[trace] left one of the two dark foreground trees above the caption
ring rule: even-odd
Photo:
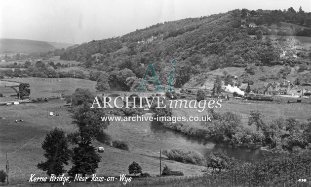
[[[46,171],[48,175],[62,175],[66,172],[63,164],[68,165],[71,152],[62,129],[55,127],[54,130],[46,134],[42,143],[42,149],[45,151],[43,155],[47,160],[37,164],[39,169]]]

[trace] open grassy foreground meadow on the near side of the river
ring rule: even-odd
[[[48,112],[59,113],[59,116],[46,118],[46,108]],[[28,184],[30,174],[46,176],[42,170],[36,167],[38,162],[45,160],[41,143],[46,132],[55,127],[62,128],[66,133],[75,130],[70,117],[71,113],[68,110],[68,105],[60,99],[44,103],[28,103],[27,105],[0,106],[0,117],[5,118],[0,119],[0,169],[5,169],[5,152],[7,150],[12,184]],[[24,122],[15,123],[15,120],[19,119]],[[93,145],[105,147],[105,152],[101,153],[102,159],[96,171],[98,176],[127,174],[127,167],[133,160],[142,166],[143,172],[148,172],[153,176],[159,173],[158,155],[146,153],[143,150],[123,151],[98,141],[94,141]],[[202,174],[200,170],[206,170],[203,166],[165,159],[162,160],[162,165],[167,165],[172,170],[182,171],[185,175]],[[71,164],[65,167],[66,170],[70,168]]]

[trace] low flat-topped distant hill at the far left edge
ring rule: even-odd
[[[2,53],[35,53],[55,49],[57,48],[45,41],[0,38],[0,52]]]

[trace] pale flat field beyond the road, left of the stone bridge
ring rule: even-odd
[[[28,77],[10,78],[5,80],[19,83],[29,83],[31,89],[31,98],[59,96],[60,94],[72,94],[77,88],[85,88],[89,89],[91,92],[95,92],[96,85],[95,81],[74,78]]]

